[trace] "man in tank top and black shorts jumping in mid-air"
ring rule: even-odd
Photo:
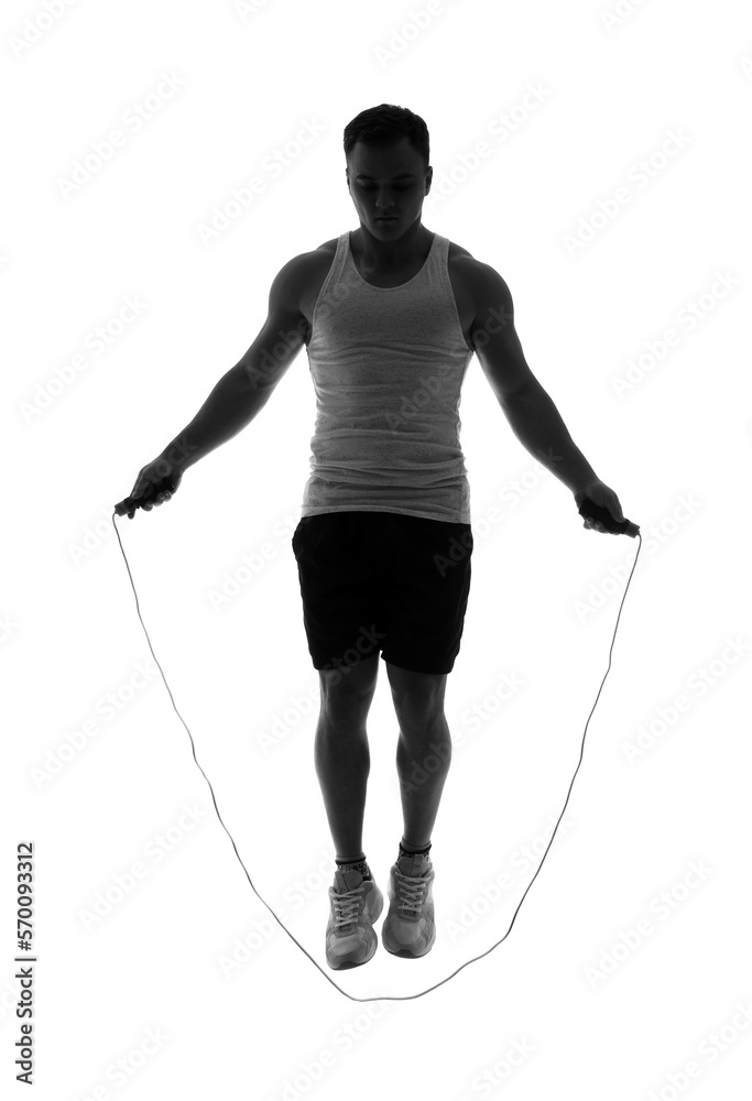
[[[423,119],[400,107],[382,103],[346,127],[359,230],[285,264],[253,345],[132,492],[148,511],[170,500],[188,466],[250,423],[306,344],[317,415],[292,549],[321,685],[315,766],[336,850],[326,929],[334,969],[371,959],[383,907],[362,848],[366,720],[380,656],[400,726],[404,818],[382,941],[415,959],[436,936],[429,851],[451,760],[444,696],[470,589],[458,408],[473,352],[523,446],[576,502],[587,494],[623,519],[527,367],[502,277],[422,225],[428,149]],[[599,521],[585,526],[606,531]]]

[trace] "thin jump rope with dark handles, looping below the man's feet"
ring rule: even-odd
[[[162,481],[161,484],[165,486],[167,492],[170,493],[170,495],[172,495],[172,493],[174,492],[174,486],[172,484],[172,482],[170,482],[168,479],[163,479],[163,481]],[[124,499],[124,501],[121,501],[119,504],[116,504],[115,512],[112,513],[112,526],[115,527],[116,534],[118,536],[118,543],[120,544],[120,549],[122,550],[122,556],[123,556],[123,558],[126,560],[126,569],[128,570],[128,576],[130,577],[130,580],[131,580],[131,588],[133,589],[133,596],[135,597],[135,610],[137,610],[137,612],[139,614],[139,619],[141,620],[141,626],[144,630],[144,634],[146,635],[146,641],[149,643],[149,648],[151,650],[152,656],[154,657],[154,661],[156,662],[156,664],[159,666],[160,673],[162,674],[162,679],[164,680],[165,688],[170,693],[170,699],[172,700],[173,708],[175,708],[175,713],[177,715],[178,719],[181,720],[181,722],[183,723],[183,726],[185,727],[185,729],[188,731],[188,738],[190,739],[190,746],[192,746],[192,750],[193,750],[194,761],[196,762],[196,764],[200,768],[200,772],[201,772],[201,775],[204,776],[204,780],[209,785],[209,791],[211,792],[211,799],[214,802],[215,810],[217,811],[217,818],[219,818],[219,821],[221,824],[222,829],[225,830],[225,832],[227,833],[227,836],[229,837],[229,839],[230,839],[230,841],[232,843],[232,848],[235,849],[235,854],[238,858],[238,860],[240,861],[240,865],[241,865],[242,870],[246,872],[246,876],[248,879],[248,882],[251,884],[253,893],[264,904],[264,906],[266,907],[266,909],[273,915],[273,917],[274,917],[275,922],[277,923],[277,925],[280,925],[284,929],[284,931],[287,934],[287,936],[291,938],[291,940],[294,940],[295,944],[297,945],[297,947],[301,949],[301,951],[305,956],[308,957],[308,959],[314,964],[314,967],[318,968],[318,970],[321,972],[321,974],[327,980],[327,982],[330,982],[331,985],[336,990],[338,990],[340,994],[344,994],[345,998],[349,998],[350,1001],[352,1001],[352,1002],[384,1002],[384,1001],[408,1002],[408,1001],[412,1001],[414,998],[422,998],[424,994],[431,993],[432,990],[436,990],[437,986],[444,985],[444,983],[448,982],[449,979],[454,979],[456,974],[459,974],[459,972],[462,970],[462,968],[466,968],[469,963],[476,963],[478,960],[483,959],[483,957],[488,956],[489,952],[492,952],[494,950],[494,948],[498,948],[499,945],[503,940],[506,940],[506,937],[512,931],[512,926],[514,925],[514,922],[516,920],[516,916],[517,916],[517,913],[520,911],[520,907],[522,906],[523,902],[525,901],[527,892],[530,891],[530,889],[532,887],[533,883],[537,879],[538,872],[543,868],[543,861],[546,859],[546,857],[548,854],[548,850],[551,849],[552,843],[554,841],[554,838],[556,837],[556,830],[558,829],[559,822],[562,821],[562,818],[564,817],[564,811],[567,809],[567,804],[569,803],[569,796],[571,794],[571,788],[573,788],[573,785],[575,783],[575,776],[579,772],[579,766],[582,763],[582,753],[585,752],[585,738],[586,738],[586,734],[588,732],[588,727],[590,724],[590,719],[592,718],[592,712],[596,710],[596,704],[598,704],[598,700],[600,699],[601,690],[603,688],[603,685],[606,684],[606,677],[609,675],[609,671],[611,668],[611,654],[613,652],[613,643],[615,642],[615,639],[617,639],[617,630],[619,628],[619,620],[621,618],[621,609],[622,609],[622,607],[624,604],[624,598],[626,597],[626,591],[628,591],[628,589],[630,587],[630,582],[632,580],[632,575],[634,574],[634,568],[637,565],[637,558],[640,557],[640,550],[642,549],[642,535],[640,534],[639,526],[636,524],[633,524],[630,520],[615,521],[613,519],[613,516],[611,515],[610,512],[608,512],[606,509],[601,508],[599,504],[596,504],[595,501],[590,501],[587,497],[585,497],[582,499],[582,501],[581,501],[581,503],[579,505],[579,510],[578,511],[579,511],[579,514],[584,519],[589,520],[591,522],[600,521],[601,524],[603,525],[603,527],[606,528],[606,531],[608,533],[612,534],[612,535],[629,535],[632,538],[634,538],[636,536],[640,539],[640,543],[639,543],[639,546],[637,546],[637,553],[634,556],[634,563],[632,565],[632,569],[630,571],[630,576],[629,576],[629,578],[626,580],[626,587],[624,589],[624,596],[621,598],[621,604],[619,606],[619,614],[617,615],[617,625],[613,629],[613,637],[611,639],[611,646],[609,648],[609,666],[608,666],[608,668],[607,668],[607,671],[606,671],[606,673],[603,675],[603,679],[600,683],[600,688],[598,689],[598,695],[596,696],[596,701],[592,705],[592,708],[590,710],[590,715],[588,716],[588,721],[585,723],[585,730],[582,731],[582,745],[580,748],[579,761],[577,762],[577,767],[575,768],[575,773],[574,773],[574,775],[571,777],[571,782],[569,784],[569,791],[567,792],[567,797],[566,797],[566,799],[564,802],[564,806],[562,807],[562,814],[558,816],[558,819],[556,821],[556,826],[554,827],[554,832],[551,835],[551,840],[548,841],[548,844],[546,846],[545,851],[544,851],[543,855],[541,857],[541,863],[537,866],[535,875],[533,876],[533,879],[527,884],[527,887],[525,889],[525,892],[524,892],[522,898],[517,903],[517,908],[514,911],[514,914],[512,915],[512,920],[509,924],[509,929],[506,930],[506,933],[503,935],[503,937],[500,940],[497,940],[495,945],[491,945],[491,947],[488,948],[484,952],[481,952],[480,956],[475,956],[472,959],[467,960],[467,962],[465,962],[460,967],[458,967],[456,971],[453,971],[451,974],[448,974],[446,977],[446,979],[442,979],[440,982],[434,983],[433,986],[428,986],[426,990],[422,990],[417,994],[402,994],[402,995],[382,994],[379,998],[355,998],[352,994],[348,994],[348,992],[346,990],[342,990],[342,988],[339,986],[334,981],[334,979],[331,979],[331,977],[326,973],[326,971],[321,967],[319,967],[319,964],[313,958],[313,956],[310,955],[310,952],[306,951],[306,949],[303,947],[303,945],[299,942],[299,940],[297,940],[293,936],[293,934],[290,931],[290,929],[287,928],[287,926],[276,916],[276,914],[274,913],[274,911],[272,909],[272,907],[269,905],[269,903],[266,902],[266,900],[262,898],[261,895],[259,894],[259,892],[253,886],[253,880],[251,879],[251,876],[250,876],[250,874],[248,872],[248,869],[246,868],[246,865],[244,865],[244,863],[243,863],[243,861],[242,861],[242,859],[240,857],[240,853],[238,852],[238,847],[235,843],[235,838],[232,837],[232,835],[230,833],[229,829],[225,825],[225,822],[222,820],[222,816],[219,814],[219,807],[217,806],[217,799],[215,798],[214,787],[211,786],[211,782],[209,781],[209,777],[206,775],[206,773],[201,768],[201,766],[200,766],[200,764],[198,762],[198,757],[196,756],[196,746],[194,744],[193,734],[188,730],[187,723],[186,723],[185,719],[183,718],[183,716],[181,715],[181,712],[177,710],[177,707],[175,707],[175,700],[173,698],[172,691],[170,690],[170,685],[167,684],[167,678],[165,677],[164,672],[162,669],[162,666],[160,665],[160,663],[157,661],[156,654],[154,653],[154,647],[152,646],[151,639],[149,637],[149,632],[146,631],[146,626],[145,626],[145,624],[143,622],[143,619],[141,618],[141,609],[139,607],[139,596],[138,596],[138,593],[135,591],[135,586],[133,585],[133,576],[131,575],[131,568],[128,565],[128,558],[126,557],[126,552],[123,549],[122,539],[120,538],[120,532],[118,531],[118,525],[115,522],[116,515],[122,516],[126,513],[134,512],[134,510],[138,509],[138,508],[140,508],[144,502],[152,501],[155,495],[156,495],[156,489],[154,489],[153,493],[151,493],[149,495],[144,495],[144,497],[139,498],[139,499],[133,499],[133,498],[128,497],[128,498]]]

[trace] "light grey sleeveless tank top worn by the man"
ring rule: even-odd
[[[337,239],[308,344],[316,422],[303,516],[399,512],[470,523],[459,403],[473,352],[449,243],[434,233],[421,271],[380,287],[356,268],[349,231]]]

